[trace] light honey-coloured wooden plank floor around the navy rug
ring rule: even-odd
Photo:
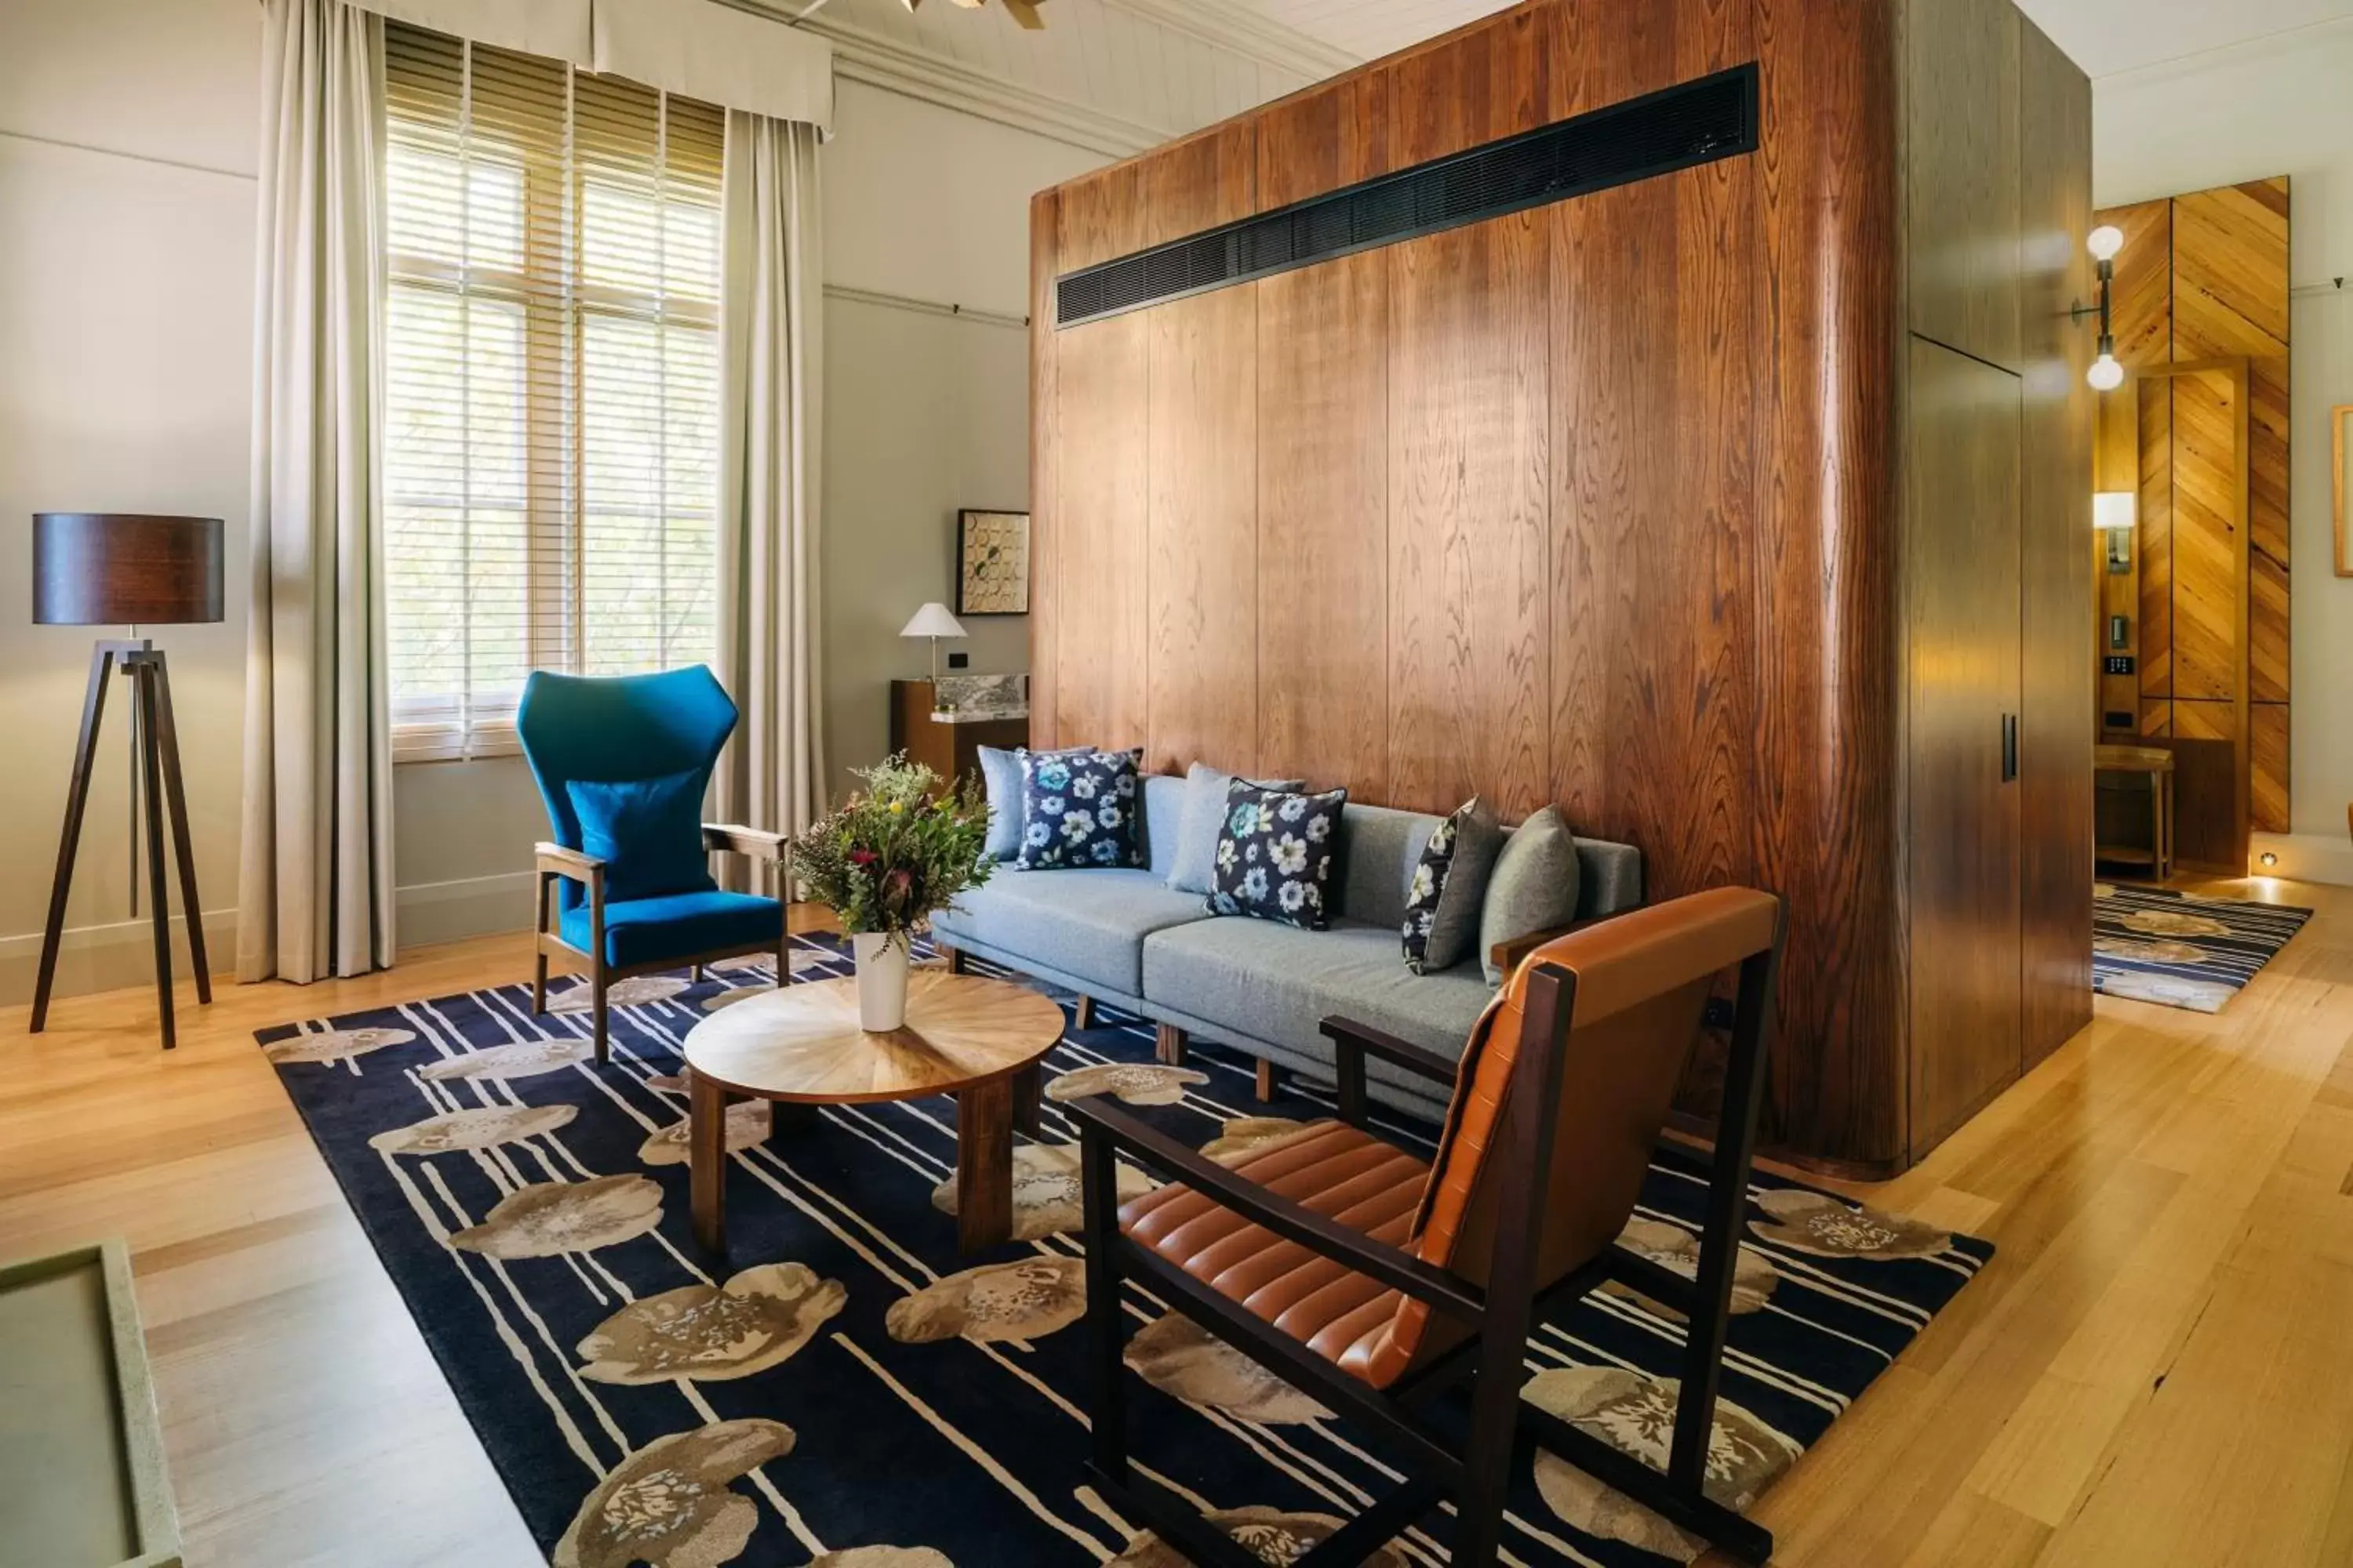
[[[2353,889],[2214,1018],[2099,1001],[1873,1201],[1993,1265],[1760,1507],[1777,1563],[2353,1563]],[[0,1011],[0,1260],[132,1241],[193,1568],[536,1554],[252,1030],[529,973]],[[193,997],[188,997],[193,1001]],[[962,1568],[995,1568],[962,1563]]]

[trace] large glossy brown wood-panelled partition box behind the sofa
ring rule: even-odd
[[[1035,743],[1144,745],[1153,769],[1205,759],[1431,811],[1485,795],[1506,820],[1558,802],[1579,832],[1642,849],[1652,898],[1784,893],[1774,1140],[1873,1171],[1925,1147],[1906,945],[1906,299],[2007,313],[2002,374],[2024,407],[2021,355],[2040,367],[2057,339],[2040,320],[2024,331],[2021,310],[2049,303],[2054,273],[2075,282],[2047,261],[2049,235],[2033,235],[2040,273],[2021,240],[2021,49],[2042,52],[2024,71],[2057,80],[2052,113],[2082,122],[2059,136],[2080,158],[2054,176],[2073,209],[2049,221],[2078,228],[2059,256],[2080,254],[2089,214],[2082,75],[2007,0],[1908,7],[1979,28],[1962,45],[1993,52],[2000,101],[1962,110],[2009,127],[1991,150],[1962,134],[1927,174],[1986,186],[1991,160],[1993,212],[1913,190],[1894,9],[1534,0],[1031,212]],[[1751,155],[1054,320],[1054,280],[1075,268],[1748,61]],[[1986,254],[1986,228],[2019,256],[1991,282],[1962,261]],[[2073,562],[2073,719],[2026,736],[2064,795],[2068,820],[2047,832],[2080,827],[2082,853],[2061,856],[2080,889],[2042,961],[2019,954],[2014,896],[2012,1077],[2021,976],[2085,983],[2089,964],[2078,411],[2082,440],[2057,451],[2080,451],[2082,473],[2026,529],[2068,541],[2028,567]],[[2019,569],[2012,637],[2026,635]],[[2042,668],[2033,646],[2014,656]],[[2009,689],[2005,712],[2021,705]],[[2038,1027],[2064,1039],[2087,1013],[2087,994],[2045,997]]]

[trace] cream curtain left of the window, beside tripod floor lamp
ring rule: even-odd
[[[393,961],[384,21],[266,0],[238,978]]]

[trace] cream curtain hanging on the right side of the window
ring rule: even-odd
[[[718,811],[772,832],[798,832],[826,809],[816,623],[819,136],[800,120],[727,113],[720,679],[744,717],[720,759]],[[744,877],[741,863],[729,875]],[[758,870],[746,886],[774,891],[765,879]]]

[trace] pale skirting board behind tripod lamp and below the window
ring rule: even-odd
[[[456,943],[468,936],[527,931],[532,924],[532,872],[501,877],[466,877],[461,882],[426,882],[393,896],[393,919],[400,950]],[[56,994],[153,985],[155,947],[146,919],[115,919],[96,926],[68,926],[56,950]],[[205,910],[205,943],[212,950],[214,978],[224,985],[238,971],[238,912]],[[0,1006],[24,1006],[33,999],[40,971],[40,931],[0,936]],[[188,978],[188,922],[172,917],[172,971]],[[68,1013],[52,1013],[54,1027],[71,1027]]]

